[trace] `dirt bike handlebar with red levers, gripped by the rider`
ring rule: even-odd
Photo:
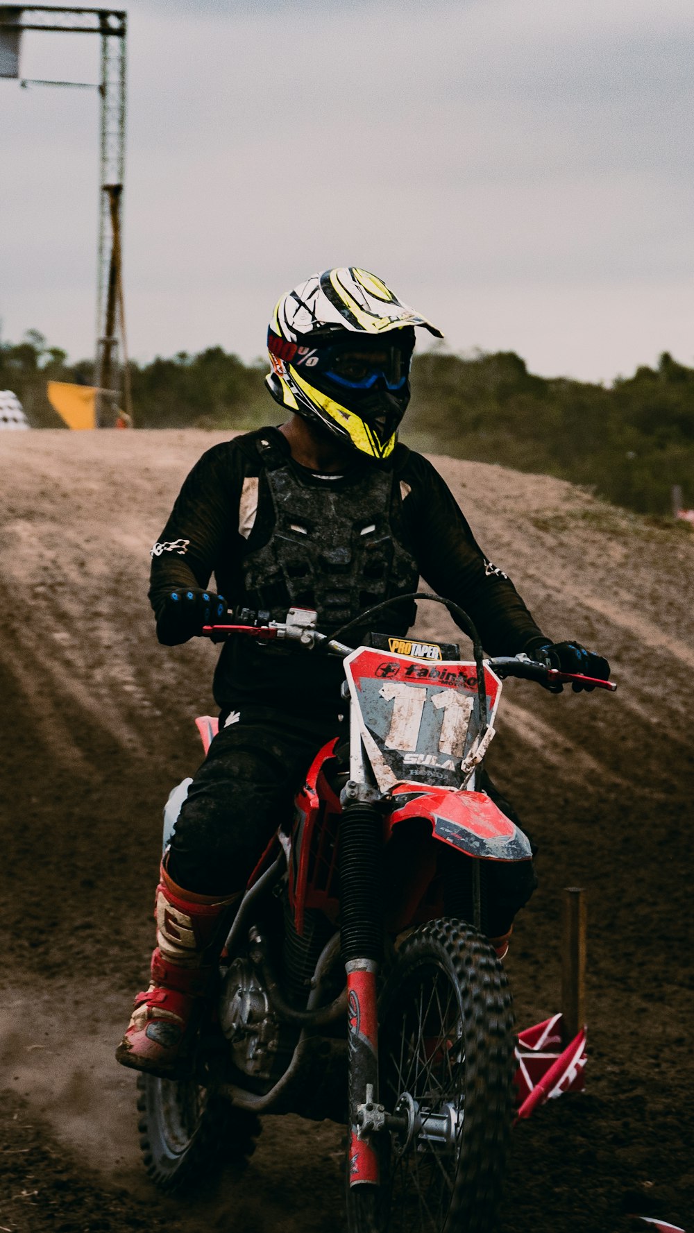
[[[213,642],[223,642],[233,634],[244,634],[248,637],[256,637],[261,642],[290,641],[298,642],[307,650],[320,646],[330,655],[340,658],[351,655],[354,647],[338,642],[327,634],[320,634],[312,628],[308,621],[295,619],[287,621],[269,621],[267,625],[203,625],[202,634]],[[602,677],[586,677],[581,672],[561,672],[558,668],[549,668],[545,663],[537,663],[526,655],[499,656],[496,660],[486,660],[487,666],[498,677],[516,677],[524,681],[536,681],[539,684],[565,684],[579,682],[584,686],[593,686],[594,689],[606,689],[615,693],[614,681],[604,681]]]

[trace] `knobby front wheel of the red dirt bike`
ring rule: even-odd
[[[348,1201],[350,1233],[491,1233],[513,1116],[514,1020],[487,938],[457,920],[417,928],[378,1017],[380,1102],[401,1124],[380,1136],[383,1185]]]

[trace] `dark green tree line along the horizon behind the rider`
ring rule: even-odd
[[[46,381],[90,383],[37,330],[0,344],[0,388],[14,390],[37,428],[60,427]],[[138,428],[244,429],[279,418],[266,364],[222,346],[131,363]],[[615,504],[668,514],[673,485],[694,507],[694,369],[667,351],[611,385],[529,372],[514,351],[415,355],[402,436],[417,449],[497,462],[589,486]]]

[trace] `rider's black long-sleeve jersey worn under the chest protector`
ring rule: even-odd
[[[286,438],[272,428],[271,435],[287,459]],[[242,534],[244,481],[260,477],[263,459],[249,443],[260,435],[249,433],[202,455],[185,480],[171,514],[152,550],[149,599],[157,619],[173,591],[207,587],[212,573],[216,589],[229,605],[243,594],[242,557],[247,541]],[[302,483],[334,483],[291,462]],[[372,462],[355,457],[340,482],[350,482],[360,467]],[[451,491],[420,454],[398,445],[390,465],[399,481],[403,529],[419,572],[434,592],[460,604],[475,621],[484,649],[491,655],[516,655],[546,641],[513,582],[493,566],[475,540]],[[248,487],[248,486],[247,486]],[[258,504],[258,518],[269,519],[271,502]],[[248,531],[247,531],[248,534]],[[300,713],[327,714],[339,709],[341,665],[328,656],[307,657],[301,651],[259,646],[249,639],[227,642],[214,673],[214,698],[222,710],[242,705],[287,704]]]

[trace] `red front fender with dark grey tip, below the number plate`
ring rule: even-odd
[[[401,783],[393,788],[391,829],[409,817],[431,822],[435,838],[482,861],[530,861],[529,838],[484,792],[451,792]]]

